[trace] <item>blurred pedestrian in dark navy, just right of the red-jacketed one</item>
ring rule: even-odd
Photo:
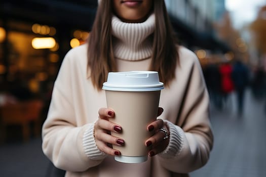
[[[238,115],[241,117],[243,114],[245,90],[249,83],[248,67],[241,60],[237,60],[233,65],[232,79],[237,94]]]

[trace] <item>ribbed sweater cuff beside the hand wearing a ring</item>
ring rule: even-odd
[[[164,120],[170,131],[170,140],[167,148],[159,155],[163,158],[173,158],[177,156],[182,149],[184,131],[179,126],[173,124],[168,120]]]

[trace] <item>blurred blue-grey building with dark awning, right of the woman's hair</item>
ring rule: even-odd
[[[181,44],[193,50],[202,65],[229,55],[232,49],[215,28],[215,23],[226,13],[224,0],[165,2]]]

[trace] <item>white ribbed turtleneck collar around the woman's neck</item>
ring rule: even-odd
[[[153,51],[150,34],[155,29],[155,15],[142,23],[125,23],[112,17],[113,52],[116,58],[142,60],[151,57]]]

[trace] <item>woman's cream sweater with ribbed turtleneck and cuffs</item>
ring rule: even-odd
[[[113,46],[119,71],[147,70],[155,16],[143,23],[112,18]],[[159,117],[170,129],[164,152],[137,164],[121,163],[102,153],[93,137],[98,110],[106,107],[105,92],[92,85],[87,71],[87,44],[70,50],[54,84],[48,117],[43,125],[43,151],[66,176],[187,176],[209,158],[213,137],[209,97],[194,53],[179,47],[175,79],[161,92]]]

